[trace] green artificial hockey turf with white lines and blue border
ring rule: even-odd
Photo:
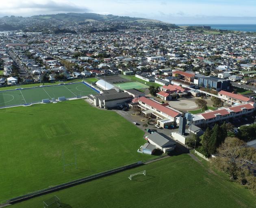
[[[39,103],[44,99],[77,98],[96,93],[99,92],[84,82],[0,91],[0,108]]]

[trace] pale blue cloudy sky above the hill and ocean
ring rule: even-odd
[[[256,24],[256,0],[0,0],[0,17],[99,13],[174,24]]]

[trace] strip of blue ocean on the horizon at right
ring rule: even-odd
[[[211,26],[212,29],[256,32],[256,24],[178,24],[178,26]]]

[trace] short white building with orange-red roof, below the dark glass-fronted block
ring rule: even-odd
[[[251,98],[247,98],[241,94],[234,94],[234,93],[230,93],[227,91],[223,91],[221,90],[218,93],[218,97],[222,100],[227,102],[228,104],[235,104],[235,103],[245,103],[245,102],[251,102],[252,99]]]

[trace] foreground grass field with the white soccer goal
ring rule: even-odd
[[[132,173],[146,170],[146,176]],[[189,155],[173,156],[112,176],[30,199],[13,208],[40,208],[57,195],[63,208],[253,208],[256,198],[240,184],[210,171]]]

